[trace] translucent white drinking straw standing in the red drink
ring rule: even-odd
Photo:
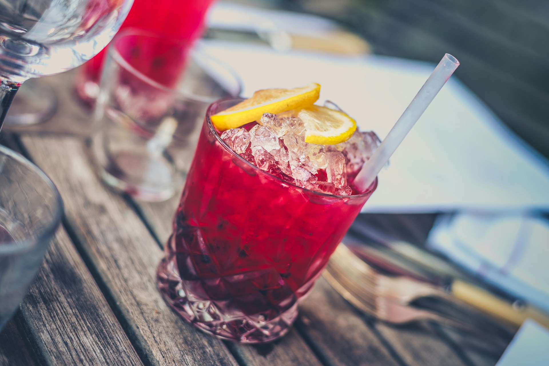
[[[410,132],[413,125],[416,124],[419,117],[423,115],[423,112],[425,112],[436,94],[439,93],[440,89],[442,89],[458,66],[460,66],[460,61],[454,56],[450,54],[444,55],[439,64],[436,65],[433,73],[425,84],[423,84],[423,87],[419,89],[416,97],[410,102],[410,105],[402,113],[399,120],[396,121],[381,145],[379,145],[372,157],[369,158],[360,173],[356,176],[354,186],[358,191],[366,191],[372,184],[379,171],[389,161],[396,148],[399,147],[402,140]]]

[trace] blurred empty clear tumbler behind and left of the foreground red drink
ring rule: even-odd
[[[184,42],[125,30],[110,45],[100,90],[99,175],[133,197],[163,201],[183,184],[208,105],[241,86],[222,62]]]

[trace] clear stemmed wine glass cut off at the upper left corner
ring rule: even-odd
[[[29,78],[70,70],[113,38],[133,0],[0,0],[0,129]]]

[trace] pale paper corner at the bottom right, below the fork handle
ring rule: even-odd
[[[549,330],[526,319],[496,366],[540,366],[549,364]]]

